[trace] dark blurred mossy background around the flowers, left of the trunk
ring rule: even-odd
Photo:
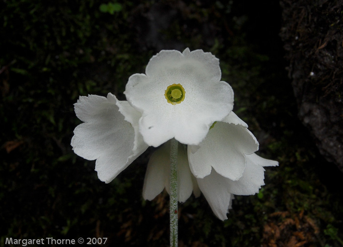
[[[201,196],[180,205],[179,246],[341,246],[342,174],[296,117],[275,1],[3,0],[0,2],[0,244],[6,237],[107,237],[106,246],[168,246],[168,195],[142,198],[149,149],[104,184],[73,154],[79,95],[124,99],[128,77],[159,49],[221,59],[234,111],[260,142],[255,196],[237,196],[221,222]],[[166,13],[164,14],[164,11]],[[155,18],[155,19],[154,19]],[[157,20],[156,20],[157,18]],[[281,244],[282,243],[282,244]]]

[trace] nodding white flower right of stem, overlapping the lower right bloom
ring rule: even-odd
[[[221,176],[239,180],[245,169],[245,154],[256,150],[258,142],[244,126],[217,122],[195,153],[190,146],[188,159],[196,178],[208,176],[213,167]]]

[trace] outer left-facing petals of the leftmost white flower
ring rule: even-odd
[[[85,159],[97,159],[95,170],[106,183],[147,149],[147,145],[135,138],[135,131],[119,112],[117,102],[109,93],[107,98],[80,96],[74,104],[76,116],[84,123],[74,130],[73,151]]]

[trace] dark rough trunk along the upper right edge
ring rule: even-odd
[[[343,172],[343,1],[281,0],[287,68],[299,118]]]

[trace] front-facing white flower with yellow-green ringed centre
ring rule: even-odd
[[[162,50],[153,56],[146,74],[132,75],[127,101],[142,113],[139,131],[157,147],[173,137],[197,145],[215,121],[233,108],[233,91],[221,81],[219,60],[209,52],[187,48]]]

